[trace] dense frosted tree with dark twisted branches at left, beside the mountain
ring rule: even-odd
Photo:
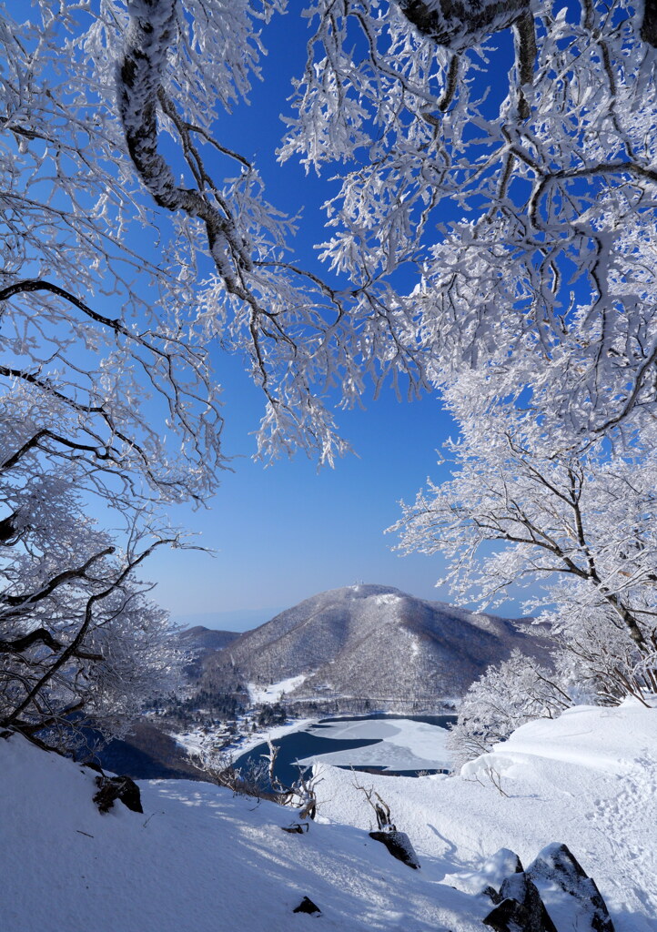
[[[0,730],[48,734],[58,747],[75,745],[77,724],[124,733],[179,684],[175,629],[136,576],[173,541],[146,543],[142,530],[119,552],[80,511],[68,476],[33,476],[30,486],[2,541]]]

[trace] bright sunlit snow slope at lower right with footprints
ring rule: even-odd
[[[372,814],[352,774],[317,769],[322,816],[369,828]],[[420,860],[454,863],[445,883],[472,889],[472,877],[459,875],[501,847],[527,867],[542,847],[562,842],[594,877],[616,932],[657,929],[657,708],[634,700],[578,706],[558,720],[523,725],[460,776],[360,782],[388,802]]]

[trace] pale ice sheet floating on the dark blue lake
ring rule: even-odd
[[[448,770],[451,767],[445,748],[447,731],[437,725],[410,719],[367,719],[362,721],[332,721],[308,729],[322,738],[352,741],[359,738],[379,739],[376,745],[333,751],[305,758],[299,763],[314,761],[337,767],[381,767],[384,771]]]

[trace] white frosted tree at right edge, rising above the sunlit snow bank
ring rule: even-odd
[[[515,432],[508,412],[464,427],[452,479],[404,505],[402,547],[445,555],[442,582],[461,600],[496,605],[514,586],[535,587],[527,610],[602,692],[654,689],[654,452],[537,453],[522,420]]]

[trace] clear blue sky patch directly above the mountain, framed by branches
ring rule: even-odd
[[[446,424],[436,399],[400,404],[389,396],[342,416],[358,456],[335,470],[318,473],[302,456],[265,469],[250,459],[260,397],[232,368],[223,367],[223,380],[234,472],[224,475],[209,510],[181,514],[201,532],[198,542],[216,553],[154,555],[147,574],[158,581],[157,600],[185,620],[230,626],[267,621],[303,598],[357,580],[446,599],[433,588],[436,559],[393,554],[395,539],[383,534],[399,517],[397,500],[412,498],[427,473],[437,477],[434,449]],[[244,610],[250,613],[240,619],[236,612]],[[192,617],[199,614],[207,617]]]

